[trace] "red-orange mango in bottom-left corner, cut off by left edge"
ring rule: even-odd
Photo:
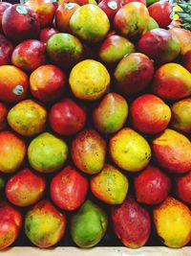
[[[15,242],[22,224],[21,214],[8,203],[0,205],[0,250]]]

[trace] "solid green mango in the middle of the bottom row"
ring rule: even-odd
[[[93,247],[103,238],[107,225],[106,213],[91,200],[86,200],[72,217],[72,239],[79,247]]]

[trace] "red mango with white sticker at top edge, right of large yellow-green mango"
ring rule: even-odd
[[[113,21],[117,11],[122,7],[122,1],[102,0],[98,4],[98,7],[107,14],[110,21]]]

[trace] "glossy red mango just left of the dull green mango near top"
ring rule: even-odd
[[[45,60],[45,45],[34,39],[28,39],[18,44],[11,56],[11,62],[14,66],[29,72],[44,64]]]

